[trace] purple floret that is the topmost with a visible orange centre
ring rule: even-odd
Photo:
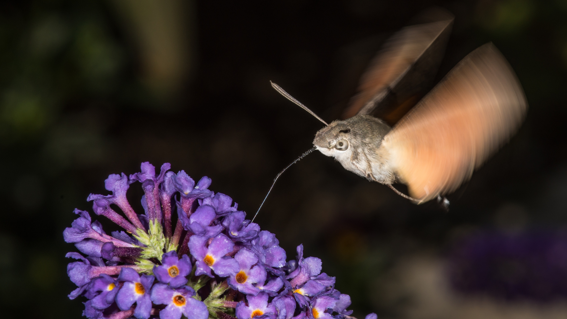
[[[211,270],[221,277],[236,275],[239,271],[238,262],[225,256],[234,249],[232,241],[225,235],[219,234],[213,238],[209,247],[205,247],[208,240],[207,237],[197,235],[189,238],[189,251],[197,259],[195,275],[206,274],[212,277]]]

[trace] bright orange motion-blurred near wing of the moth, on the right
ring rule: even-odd
[[[390,165],[421,202],[456,190],[518,129],[527,102],[502,54],[466,56],[382,142]]]

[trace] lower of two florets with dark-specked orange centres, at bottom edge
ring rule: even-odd
[[[161,319],[179,319],[181,313],[190,319],[207,319],[209,311],[202,302],[194,299],[193,288],[184,286],[182,288],[171,288],[166,284],[157,283],[151,289],[151,301],[154,304],[167,305],[159,312]]]

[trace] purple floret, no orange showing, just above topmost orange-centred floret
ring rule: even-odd
[[[224,229],[222,225],[210,226],[213,220],[217,218],[217,213],[209,205],[199,206],[189,217],[187,217],[187,212],[183,211],[180,205],[178,205],[177,215],[179,215],[183,229],[191,230],[198,236],[215,237]]]

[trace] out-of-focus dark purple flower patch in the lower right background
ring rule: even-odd
[[[455,244],[448,256],[452,286],[502,299],[548,301],[567,296],[567,233],[481,230]]]

